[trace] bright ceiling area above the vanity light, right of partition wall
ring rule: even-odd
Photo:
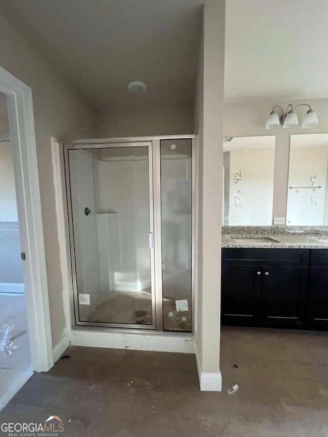
[[[328,97],[327,0],[227,0],[225,100]]]

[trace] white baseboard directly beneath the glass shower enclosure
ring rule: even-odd
[[[153,350],[157,352],[194,352],[194,337],[159,334],[129,334],[109,332],[101,329],[73,329],[73,346],[108,347],[113,349]]]

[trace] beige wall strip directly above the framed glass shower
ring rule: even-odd
[[[102,138],[193,133],[193,108],[116,110],[98,115]]]

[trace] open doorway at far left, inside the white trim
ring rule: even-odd
[[[12,144],[0,92],[0,409],[32,375]]]

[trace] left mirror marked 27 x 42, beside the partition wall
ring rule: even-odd
[[[223,225],[272,224],[276,137],[223,140]]]

